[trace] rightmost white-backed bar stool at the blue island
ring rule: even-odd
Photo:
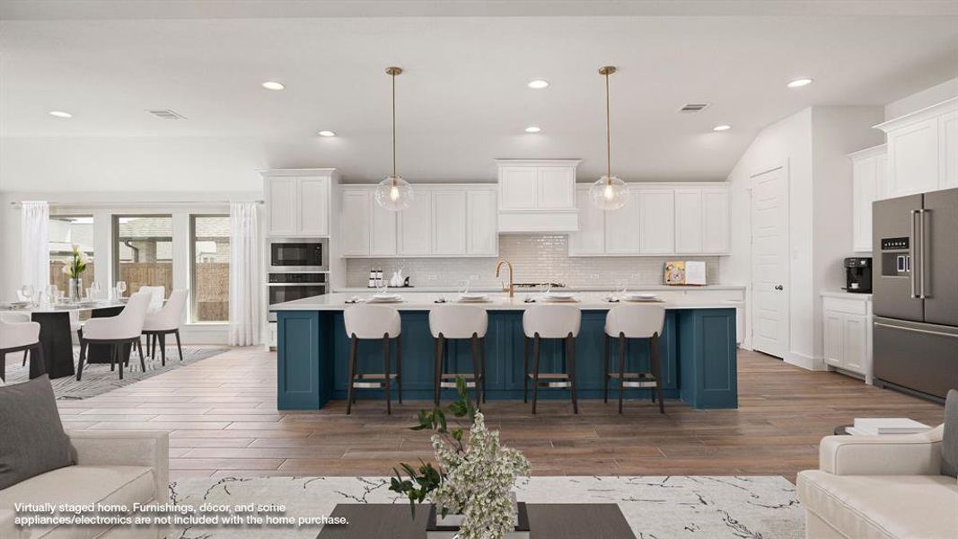
[[[662,359],[658,353],[658,338],[665,323],[665,307],[661,305],[620,305],[605,316],[603,359],[605,363],[604,402],[608,403],[608,381],[618,380],[619,413],[626,387],[655,387],[652,402],[658,399],[659,413],[665,413],[662,401]],[[619,340],[619,372],[609,372],[608,340]],[[626,343],[628,339],[649,340],[651,372],[626,372]]]

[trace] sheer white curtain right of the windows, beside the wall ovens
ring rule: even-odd
[[[229,343],[260,343],[260,230],[256,202],[230,203]]]

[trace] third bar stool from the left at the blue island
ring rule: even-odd
[[[529,379],[533,379],[533,413],[536,413],[536,397],[539,378],[546,380],[544,387],[568,387],[572,396],[572,410],[579,413],[579,397],[576,392],[576,337],[582,325],[582,313],[574,305],[536,305],[522,314],[523,340],[522,402],[529,402]],[[529,340],[533,340],[533,372],[529,372]],[[543,339],[563,340],[562,358],[568,372],[539,372],[539,348]]]

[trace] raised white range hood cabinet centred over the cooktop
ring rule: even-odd
[[[499,159],[500,232],[570,232],[579,229],[578,159]]]

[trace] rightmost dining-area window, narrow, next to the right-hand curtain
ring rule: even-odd
[[[230,217],[190,217],[194,322],[221,322],[230,313]]]

